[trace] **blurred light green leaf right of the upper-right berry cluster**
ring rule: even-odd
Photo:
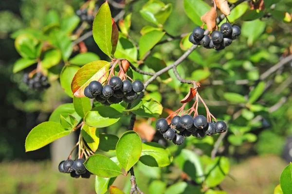
[[[266,22],[259,19],[245,21],[241,26],[241,34],[247,38],[248,46],[252,46],[256,39],[265,31]]]

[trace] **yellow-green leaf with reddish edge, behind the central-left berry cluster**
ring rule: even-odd
[[[74,75],[71,90],[76,97],[84,97],[84,89],[93,80],[99,78],[110,68],[108,61],[93,61],[81,67]],[[100,82],[103,83],[108,75],[101,78]]]

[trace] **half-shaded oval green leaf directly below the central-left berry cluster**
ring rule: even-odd
[[[110,106],[98,106],[84,117],[85,123],[92,127],[106,127],[120,120],[123,114]]]

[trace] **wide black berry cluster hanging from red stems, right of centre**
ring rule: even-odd
[[[193,135],[196,138],[203,138],[206,135],[224,133],[227,129],[227,125],[223,121],[207,122],[203,115],[195,118],[190,115],[175,116],[172,118],[171,124],[168,124],[166,119],[159,119],[155,127],[163,134],[164,139],[172,140],[176,145],[181,145],[184,137]]]

